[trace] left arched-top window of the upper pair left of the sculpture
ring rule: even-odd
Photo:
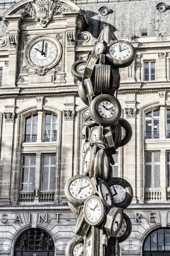
[[[26,117],[24,142],[37,141],[37,122],[37,114]]]

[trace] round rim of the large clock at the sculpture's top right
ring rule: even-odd
[[[131,47],[132,49],[132,54],[129,58],[127,58],[126,60],[116,60],[115,58],[113,58],[113,56],[110,54],[109,52],[109,49],[110,47],[113,45],[113,44],[118,44],[118,43],[123,43],[123,44],[127,44],[129,47]],[[110,64],[113,64],[114,66],[116,67],[128,67],[130,64],[132,64],[132,62],[134,61],[135,59],[135,55],[136,55],[136,52],[135,52],[135,49],[133,47],[132,44],[130,44],[128,41],[125,41],[125,40],[111,40],[107,46],[106,46],[106,58],[108,60],[108,62]]]

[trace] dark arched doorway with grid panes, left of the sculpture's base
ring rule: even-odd
[[[54,256],[54,241],[40,228],[28,229],[18,237],[14,256]]]

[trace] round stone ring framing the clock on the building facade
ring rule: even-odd
[[[61,58],[61,55],[62,55],[62,47],[61,47],[61,44],[59,43],[59,41],[57,40],[57,38],[54,38],[53,36],[51,35],[38,35],[38,36],[35,36],[34,38],[32,38],[30,41],[28,41],[28,43],[26,44],[26,46],[24,47],[24,60],[26,62],[26,64],[35,69],[37,67],[41,67],[39,65],[36,65],[34,64],[32,61],[31,61],[31,58],[30,58],[30,51],[31,51],[31,48],[33,47],[34,44],[36,44],[37,42],[39,41],[49,41],[51,44],[54,45],[54,47],[56,48],[56,57],[54,59],[54,61],[51,62],[51,64],[47,64],[43,67],[48,67],[48,69],[51,69],[52,67],[54,67],[60,60]]]

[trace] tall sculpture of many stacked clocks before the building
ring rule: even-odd
[[[41,51],[40,59],[45,58]],[[135,49],[105,27],[87,56],[72,66],[79,97],[89,108],[83,113],[81,174],[65,184],[69,207],[78,215],[77,237],[69,241],[65,256],[119,256],[119,242],[132,230],[123,209],[131,203],[133,190],[123,178],[111,177],[111,165],[116,149],[132,136],[130,124],[121,118],[117,90],[119,68],[133,62]]]

